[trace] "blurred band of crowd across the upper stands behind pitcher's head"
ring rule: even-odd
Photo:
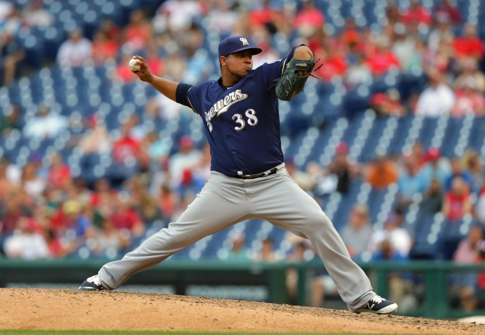
[[[306,43],[322,65],[316,74],[325,81],[340,78],[349,90],[388,72],[426,74],[427,87],[409,97],[401,97],[394,88],[373,94],[369,104],[379,114],[483,115],[483,41],[475,25],[463,22],[453,2],[442,0],[431,13],[418,1],[412,1],[407,9],[391,1],[385,14],[379,30],[362,25],[361,20],[357,25],[350,17],[343,27],[336,28],[310,0],[169,0],[155,14],[133,11],[125,27],[106,18],[92,36],[84,36],[80,28],[72,30],[55,61],[73,67],[86,61],[96,65],[115,61],[118,66],[113,80],[130,82],[136,76],[126,64],[131,56],[140,54],[155,74],[197,83],[218,71],[214,60],[209,59],[211,41],[206,40],[203,23],[215,36],[245,35],[261,47],[263,53],[255,56],[255,67],[288,52],[289,44],[288,50],[281,51],[275,41]],[[30,27],[49,26],[54,20],[56,17],[38,1],[23,9],[5,0],[0,2],[0,48],[6,85],[15,78],[15,64],[25,57],[16,34]]]

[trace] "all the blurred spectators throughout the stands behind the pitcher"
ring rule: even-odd
[[[374,93],[369,105],[378,115],[404,116],[415,113],[427,117],[485,112],[483,41],[477,28],[464,22],[453,2],[443,0],[432,13],[420,2],[407,9],[389,2],[380,30],[359,25],[346,18],[342,28],[328,24],[328,18],[312,1],[193,1],[169,0],[155,13],[133,11],[125,26],[106,18],[87,36],[81,27],[72,30],[59,47],[53,62],[79,67],[86,62],[102,66],[117,64],[113,81],[136,80],[127,64],[133,55],[146,58],[157,75],[175,81],[198,83],[218,77],[219,69],[207,51],[207,27],[217,36],[237,34],[248,37],[263,52],[254,57],[254,66],[276,60],[282,51],[275,41],[305,43],[322,64],[317,75],[324,81],[342,80],[346,89],[368,85],[387,73],[425,75],[426,88],[407,97],[390,88]],[[0,64],[3,85],[10,85],[25,62],[25,50],[15,38],[22,30],[50,26],[56,16],[42,2],[32,1],[23,8],[0,1]],[[218,42],[218,41],[217,41]],[[216,43],[217,44],[217,43]],[[283,43],[284,44],[284,43]],[[284,45],[286,45],[284,44]],[[56,138],[73,124],[69,118],[39,106],[34,118],[20,122],[18,106],[0,115],[0,140],[12,132],[41,141]],[[181,108],[161,95],[150,100],[146,114],[170,119]],[[123,180],[87,181],[73,177],[65,159],[55,153],[32,155],[24,166],[0,160],[0,257],[38,259],[60,258],[88,246],[91,256],[116,258],[136,247],[152,225],[162,228],[176,220],[195,198],[210,175],[210,150],[198,148],[188,136],[171,150],[156,131],[147,131],[140,120],[130,116],[120,122],[121,135],[113,138],[106,125],[94,115],[86,120],[86,131],[73,136],[69,145],[83,157],[109,155],[115,162],[136,163],[137,172]],[[286,168],[299,185],[324,206],[326,195],[345,194],[351,182],[365,180],[383,192],[398,188],[398,203],[380,227],[373,226],[366,205],[356,204],[341,234],[352,257],[359,260],[420,258],[413,254],[415,229],[405,220],[408,206],[420,211],[442,213],[447,224],[464,218],[476,224],[462,240],[444,241],[435,255],[459,264],[483,262],[485,242],[485,183],[480,155],[468,150],[461,157],[442,157],[437,148],[424,150],[416,143],[398,157],[377,156],[361,163],[348,156],[347,143],[338,145],[332,162],[322,167],[309,162],[300,170],[291,157]],[[257,252],[245,248],[244,235],[232,239],[227,260],[280,261],[270,239]],[[292,244],[289,261],[315,257],[310,245],[288,234]],[[393,275],[395,301],[409,293],[406,275]],[[288,273],[288,290],[296,290],[295,273]],[[323,278],[323,279],[322,279]],[[485,292],[483,275],[457,279],[457,296],[467,308],[477,306],[477,292]],[[334,290],[326,277],[314,283],[314,305],[321,304],[324,291]],[[293,290],[293,291],[292,291]],[[318,291],[319,290],[319,291]],[[396,293],[397,292],[397,293]]]

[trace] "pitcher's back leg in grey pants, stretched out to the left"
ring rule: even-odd
[[[201,238],[243,220],[248,214],[244,190],[241,188],[238,194],[232,188],[230,195],[225,194],[225,188],[231,186],[234,185],[210,180],[176,222],[150,236],[121,260],[104,265],[98,273],[104,288],[119,288],[133,274],[149,269]]]

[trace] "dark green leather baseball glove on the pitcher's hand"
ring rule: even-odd
[[[286,68],[281,77],[276,79],[276,97],[280,100],[290,101],[295,95],[303,90],[303,86],[309,76],[318,78],[312,74],[312,71],[315,68],[315,63],[316,62],[313,62],[313,59],[305,61],[298,59],[290,60],[288,64],[286,64]],[[319,67],[317,70],[318,69]],[[300,71],[306,71],[306,74],[301,75]]]

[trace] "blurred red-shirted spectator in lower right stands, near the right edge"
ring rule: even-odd
[[[468,185],[462,177],[455,177],[450,192],[445,195],[443,214],[450,221],[460,220],[463,215],[471,213],[472,209]]]

